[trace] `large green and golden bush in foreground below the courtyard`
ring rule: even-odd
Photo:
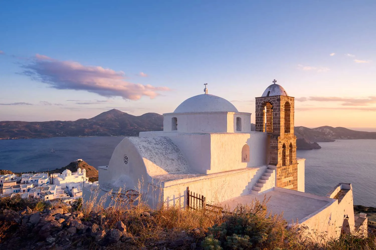
[[[287,229],[283,214],[267,211],[267,200],[256,200],[252,205],[238,205],[220,225],[209,228],[205,244],[218,240],[223,249],[276,249],[293,246],[294,233]],[[211,249],[211,248],[208,248]]]

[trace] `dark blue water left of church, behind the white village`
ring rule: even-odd
[[[13,172],[47,171],[83,159],[92,166],[108,165],[124,136],[58,137],[0,140],[0,169]],[[51,149],[55,153],[51,153]]]

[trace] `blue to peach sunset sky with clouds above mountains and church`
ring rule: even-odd
[[[3,1],[0,121],[240,112],[277,80],[295,125],[376,127],[376,1]],[[252,115],[254,122],[254,115]]]

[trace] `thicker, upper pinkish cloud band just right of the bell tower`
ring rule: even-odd
[[[300,102],[317,101],[317,102],[341,102],[342,106],[367,106],[371,103],[376,103],[376,96],[368,96],[364,98],[351,97],[335,97],[335,96],[310,96],[295,98]]]

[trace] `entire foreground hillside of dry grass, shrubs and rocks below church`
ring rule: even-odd
[[[135,204],[103,200],[36,202],[0,199],[0,249],[82,250],[374,250],[373,229],[367,238],[345,234],[329,242],[312,242],[279,214],[267,212],[267,201],[238,206],[234,213],[151,210],[139,196]],[[340,230],[340,229],[339,229]],[[318,232],[313,237],[320,239]],[[322,232],[325,234],[325,232]]]

